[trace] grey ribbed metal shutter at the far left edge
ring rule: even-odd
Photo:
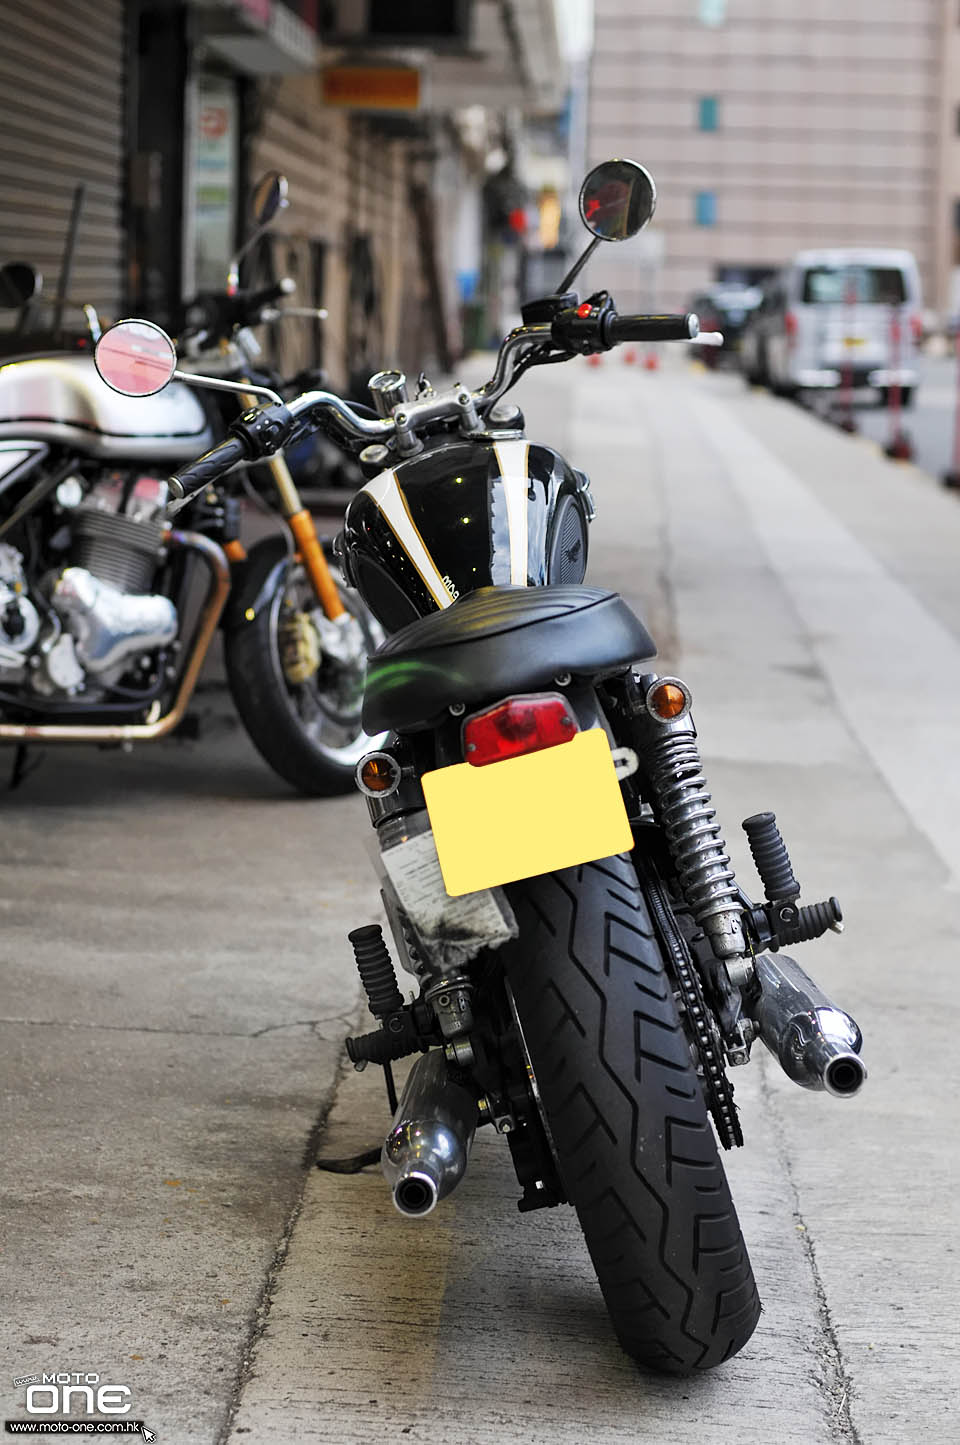
[[[111,316],[123,293],[123,72],[121,0],[3,7],[0,263],[38,266],[43,295],[55,296],[74,188],[82,181],[69,289]],[[77,312],[65,319],[82,327]]]

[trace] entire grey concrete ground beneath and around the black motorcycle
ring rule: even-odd
[[[48,753],[3,798],[0,1351],[98,1371],[160,1442],[940,1445],[956,1397],[960,509],[730,376],[610,358],[519,393],[593,477],[588,578],[693,685],[734,864],[773,808],[798,951],[863,1027],[852,1101],[759,1046],[730,1179],[765,1311],[695,1380],[620,1354],[567,1209],[518,1215],[497,1139],[425,1221],[386,1124],[344,935],[377,916],[359,799],[273,782],[215,685],[197,743]],[[483,1131],[486,1134],[486,1131]]]

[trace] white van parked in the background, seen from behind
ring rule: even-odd
[[[908,406],[921,335],[920,272],[909,251],[800,251],[765,285],[742,364],[750,380],[785,394],[872,386],[886,397],[899,383]]]

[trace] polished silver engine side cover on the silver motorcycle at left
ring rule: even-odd
[[[51,601],[74,636],[77,656],[94,676],[176,637],[176,608],[169,597],[132,597],[82,566],[64,568]]]

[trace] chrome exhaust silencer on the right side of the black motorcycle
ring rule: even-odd
[[[863,1035],[849,1013],[837,1009],[800,964],[779,954],[755,959],[759,1000],[747,1013],[784,1074],[801,1088],[823,1088],[850,1098],[866,1079],[860,1058]]]

